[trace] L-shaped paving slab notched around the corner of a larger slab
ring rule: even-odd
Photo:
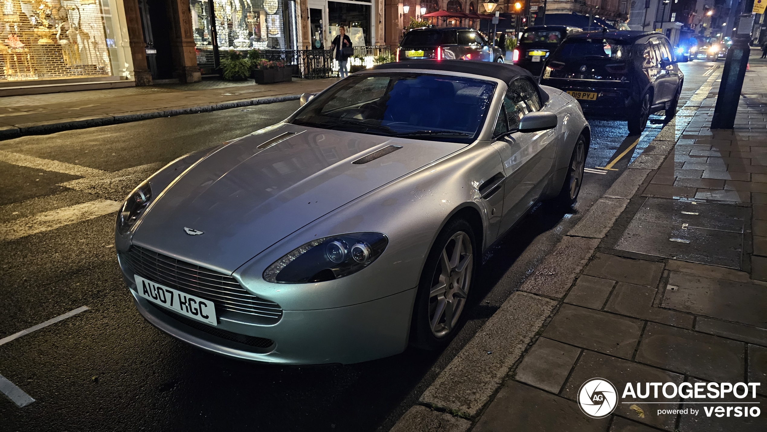
[[[693,328],[693,315],[653,307],[656,293],[654,288],[620,282],[604,310],[674,327]]]

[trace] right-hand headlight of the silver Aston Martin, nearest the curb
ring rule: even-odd
[[[264,279],[308,283],[343,278],[374,262],[388,243],[387,236],[380,232],[353,232],[316,239],[269,265]]]

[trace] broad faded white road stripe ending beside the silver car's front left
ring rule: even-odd
[[[61,209],[15,219],[0,225],[0,242],[21,239],[38,232],[50,231],[72,223],[83,222],[117,212],[120,203],[112,200],[94,200]]]

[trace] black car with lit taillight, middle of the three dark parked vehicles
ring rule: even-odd
[[[525,68],[535,77],[541,76],[543,64],[548,55],[568,36],[577,35],[581,30],[568,25],[533,25],[525,28],[519,38],[512,61],[520,68]]]

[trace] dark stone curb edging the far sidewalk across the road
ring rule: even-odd
[[[98,115],[74,119],[52,120],[31,124],[19,124],[18,126],[0,127],[0,140],[26,135],[45,135],[62,132],[64,130],[85,129],[87,127],[108,126],[110,124],[130,123],[133,121],[150,120],[160,117],[173,117],[183,114],[209,113],[212,111],[229,110],[239,107],[252,107],[254,105],[275,104],[277,102],[298,101],[301,94],[288,94],[285,96],[259,97],[258,99],[243,99],[240,101],[222,102],[221,104],[203,105],[201,107],[178,108],[174,110],[146,111],[137,114]]]

